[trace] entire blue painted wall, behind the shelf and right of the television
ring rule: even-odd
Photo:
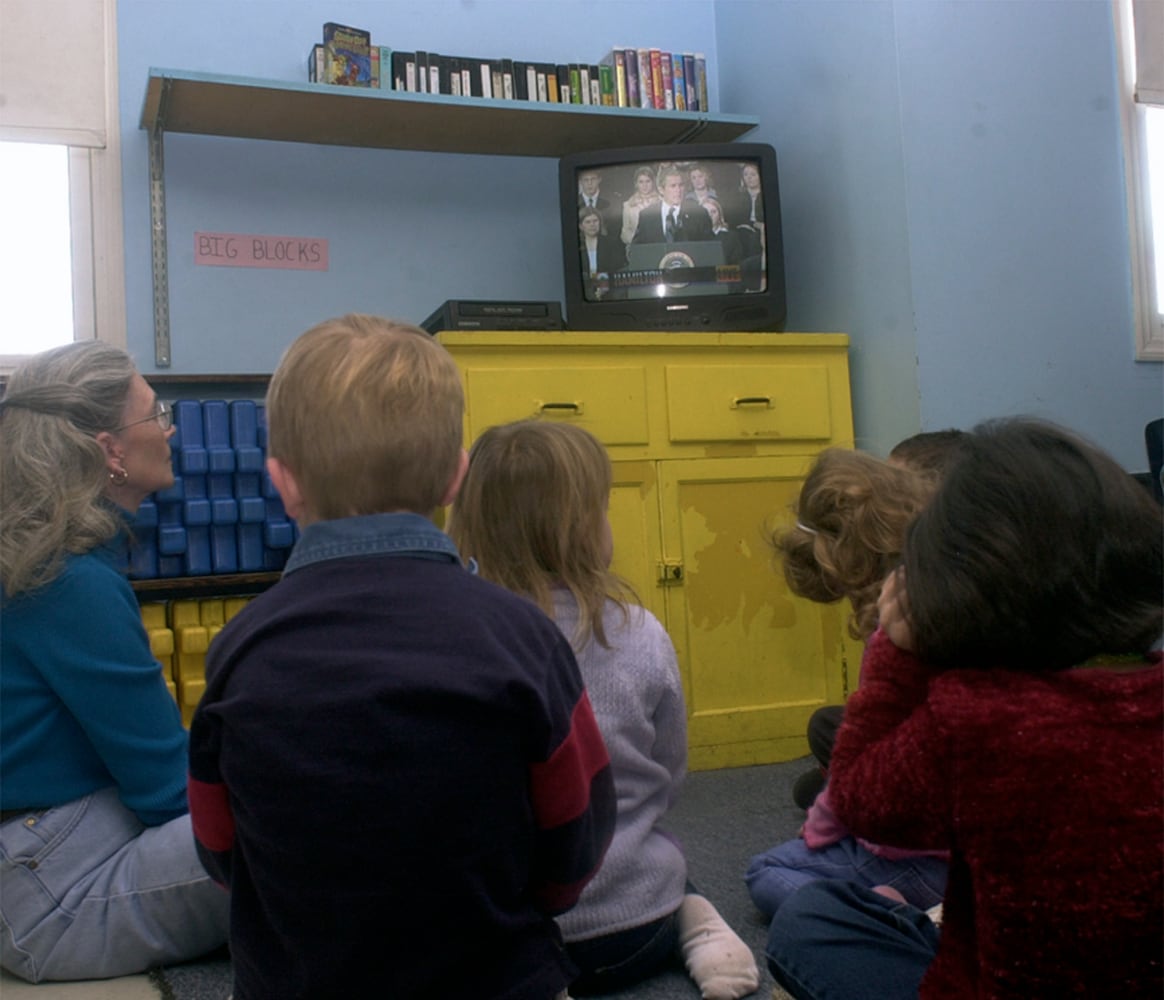
[[[860,444],[1034,412],[1143,469],[1110,9],[1101,0],[120,0],[129,347],[155,370],[149,66],[303,79],[325,20],[399,49],[701,50],[780,156],[788,328],[853,338]],[[716,80],[718,79],[718,86]],[[168,135],[175,373],[269,371],[328,315],[562,296],[552,159]],[[310,235],[331,270],[193,265],[196,231]]]

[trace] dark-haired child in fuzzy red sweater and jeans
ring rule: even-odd
[[[796,998],[1164,991],[1161,509],[1052,425],[975,428],[879,602],[830,771],[858,836],[951,852],[941,931],[839,881],[776,913]]]

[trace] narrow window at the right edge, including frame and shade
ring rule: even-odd
[[[1136,357],[1164,361],[1164,3],[1114,0]]]

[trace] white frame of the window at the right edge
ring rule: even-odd
[[[1113,0],[1116,63],[1120,75],[1120,119],[1128,192],[1128,234],[1131,243],[1131,300],[1136,332],[1136,360],[1164,361],[1164,322],[1157,303],[1156,254],[1152,246],[1151,186],[1148,178],[1145,108],[1136,102],[1136,40],[1133,0]],[[1161,113],[1164,113],[1162,111]],[[1164,192],[1157,191],[1157,197]]]

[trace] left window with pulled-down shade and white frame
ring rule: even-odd
[[[51,23],[69,73],[27,44]],[[70,340],[125,346],[115,0],[0,0],[0,371]]]

